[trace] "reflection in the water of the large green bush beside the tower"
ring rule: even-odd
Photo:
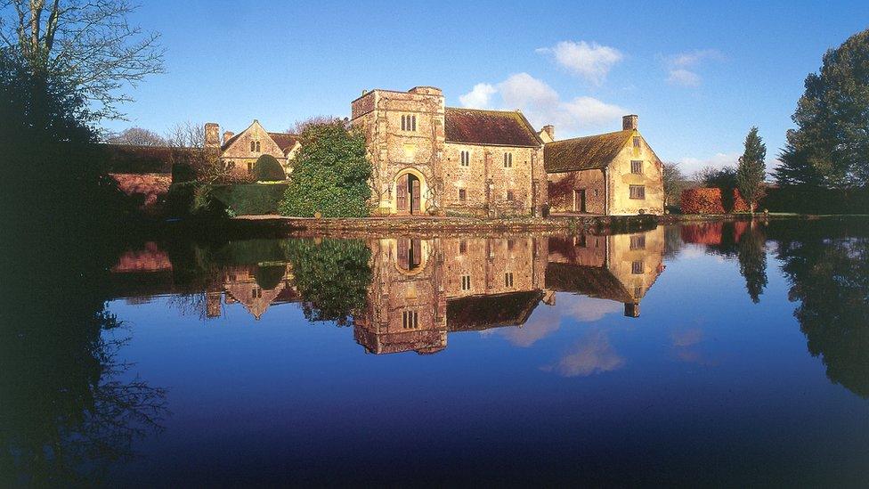
[[[371,251],[361,240],[286,240],[293,283],[312,322],[348,323],[365,307],[371,283]]]

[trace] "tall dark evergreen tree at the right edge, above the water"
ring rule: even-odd
[[[849,189],[869,183],[869,30],[827,51],[806,78],[776,182]],[[818,182],[820,181],[820,182]]]

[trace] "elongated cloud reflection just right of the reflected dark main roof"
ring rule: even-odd
[[[575,322],[595,322],[606,314],[621,312],[621,303],[593,297],[558,294],[556,306],[534,311],[531,319],[521,328],[499,328],[483,331],[483,336],[498,335],[514,346],[528,347],[556,332],[561,319],[568,317]]]

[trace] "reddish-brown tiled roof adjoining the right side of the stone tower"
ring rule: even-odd
[[[444,109],[447,143],[539,147],[543,142],[522,112]]]

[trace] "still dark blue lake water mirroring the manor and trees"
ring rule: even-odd
[[[19,483],[869,485],[865,221],[155,240],[102,285],[4,384]]]

